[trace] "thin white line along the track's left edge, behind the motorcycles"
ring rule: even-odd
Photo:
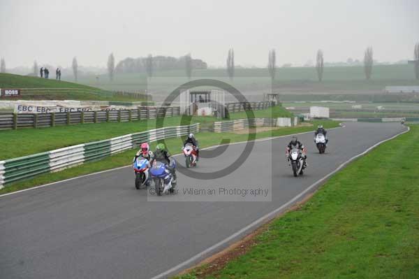
[[[339,129],[339,128],[341,128],[341,127],[330,128],[330,129],[328,129],[328,130],[332,130],[332,129]],[[312,133],[312,132],[313,132],[313,131],[305,131],[305,132],[302,132],[302,133],[297,133],[297,134],[288,134],[288,135],[285,135],[285,136],[272,136],[272,137],[270,137],[270,138],[258,138],[257,140],[254,140],[254,142],[259,142],[259,141],[270,141],[270,140],[272,140],[272,139],[276,139],[276,138],[285,138],[285,137],[287,137],[287,136],[300,135],[300,134],[308,134],[308,133]],[[217,147],[219,147],[219,146],[223,146],[223,145],[236,145],[236,144],[242,144],[242,143],[247,143],[247,141],[238,141],[238,142],[236,142],[236,143],[224,143],[224,144],[219,144],[219,145],[212,145],[212,146],[210,146],[210,147],[208,147],[208,148],[202,148],[201,150],[207,150],[207,149],[211,149],[211,148],[217,148]],[[179,156],[179,155],[182,155],[182,153],[172,155],[172,157],[177,157],[177,156]],[[1,195],[0,195],[0,198],[1,198],[1,197],[3,197],[3,196],[9,196],[9,195],[12,195],[12,194],[18,194],[18,193],[22,193],[22,192],[27,192],[27,191],[30,191],[30,190],[34,190],[34,189],[39,189],[39,188],[47,187],[47,186],[54,185],[54,184],[57,184],[57,183],[64,183],[64,182],[71,181],[71,180],[75,180],[75,179],[78,179],[78,178],[85,178],[85,177],[87,177],[87,176],[94,176],[94,175],[96,175],[96,174],[106,173],[106,172],[108,172],[108,171],[116,171],[116,170],[119,170],[119,169],[124,169],[124,168],[128,168],[128,167],[132,167],[132,164],[129,164],[128,166],[119,166],[119,167],[114,168],[114,169],[106,169],[105,171],[98,171],[98,172],[96,172],[96,173],[88,173],[88,174],[85,174],[85,175],[83,175],[83,176],[76,176],[75,178],[68,178],[68,179],[65,179],[65,180],[59,180],[59,181],[56,181],[56,182],[47,183],[47,184],[44,184],[44,185],[39,185],[39,186],[31,187],[31,188],[28,188],[28,189],[22,189],[22,190],[15,191],[15,192],[10,192],[10,193],[6,193],[6,194],[1,194]]]

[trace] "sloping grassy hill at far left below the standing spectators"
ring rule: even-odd
[[[0,73],[0,88],[19,88],[21,96],[1,100],[38,99],[38,100],[101,100],[101,101],[142,101],[130,96],[122,96],[107,90],[70,83],[54,79],[20,76],[11,73]]]

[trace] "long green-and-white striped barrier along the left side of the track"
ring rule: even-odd
[[[59,171],[129,150],[145,141],[159,141],[163,138],[185,136],[198,131],[199,123],[188,126],[163,127],[0,161],[0,189],[3,185],[17,180],[31,178],[41,173]]]

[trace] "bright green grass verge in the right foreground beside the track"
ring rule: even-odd
[[[418,168],[413,125],[274,220],[223,269],[180,278],[418,278]]]

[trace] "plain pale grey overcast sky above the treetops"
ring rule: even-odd
[[[105,66],[115,59],[191,52],[223,66],[304,64],[323,49],[325,61],[413,56],[419,41],[418,0],[100,1],[0,0],[0,56],[8,68],[41,63]]]

